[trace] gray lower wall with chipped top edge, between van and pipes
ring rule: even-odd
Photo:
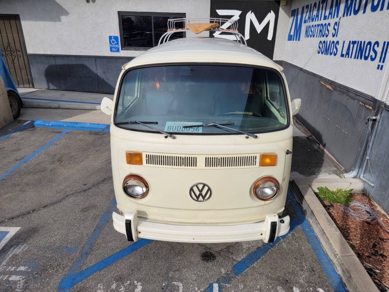
[[[282,65],[291,99],[301,98],[296,118],[350,171],[362,147],[374,99],[290,63]]]

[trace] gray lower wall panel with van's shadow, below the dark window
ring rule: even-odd
[[[114,93],[128,58],[28,55],[36,88]]]

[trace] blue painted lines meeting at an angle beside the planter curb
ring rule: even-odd
[[[288,188],[287,198],[291,202],[293,211],[296,214],[296,217],[291,220],[290,231],[281,237],[277,237],[277,239],[273,243],[263,244],[259,246],[256,250],[254,250],[254,252],[249,253],[242,260],[237,262],[230,271],[218,278],[214,283],[210,283],[209,286],[204,290],[204,292],[222,291],[225,285],[230,284],[231,281],[235,280],[237,276],[239,276],[249,267],[251,267],[272,247],[277,245],[277,243],[279,243],[281,239],[284,239],[291,231],[293,231],[294,229],[296,229],[296,227],[300,225],[303,229],[305,236],[307,237],[308,243],[312,246],[312,249],[314,250],[317,259],[319,260],[322,269],[324,270],[324,273],[326,273],[328,281],[332,285],[333,289],[336,292],[346,292],[346,289],[344,288],[342,283],[342,279],[340,278],[338,273],[336,273],[335,267],[332,265],[328,255],[322,249],[319,240],[317,239],[314,231],[312,230],[307,219],[305,218],[300,205],[294,199],[293,193],[290,188]]]

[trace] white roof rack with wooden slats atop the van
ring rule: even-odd
[[[168,42],[170,36],[176,32],[191,30],[194,33],[203,31],[228,32],[235,35],[237,42],[247,42],[242,34],[238,32],[238,21],[227,18],[175,18],[168,19],[168,31],[159,39],[158,45]]]

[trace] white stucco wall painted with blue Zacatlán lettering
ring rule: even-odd
[[[324,11],[326,11],[326,15],[328,15],[330,13],[331,2],[335,4],[336,0],[323,1],[324,9],[320,6],[320,13],[323,11],[322,19],[304,23],[304,20],[309,16],[310,5],[314,5],[315,2],[317,6],[318,0],[288,0],[287,6],[280,7],[273,59],[287,61],[338,83],[375,96],[377,86],[380,83],[381,74],[385,70],[385,68],[383,68],[383,70],[377,70],[377,67],[382,64],[382,62],[379,62],[381,51],[384,48],[385,53],[387,50],[387,42],[389,41],[389,0],[373,0],[373,5],[377,5],[377,10],[374,12],[371,11],[372,2],[370,0],[355,0],[353,2],[356,2],[356,5],[354,6],[353,3],[351,15],[346,16],[347,14],[345,14],[345,17],[343,17],[345,0],[340,0],[339,16],[327,20],[324,20]],[[361,7],[358,10],[359,2],[361,3]],[[383,5],[381,5],[382,3]],[[325,9],[326,4],[327,8]],[[365,4],[366,11],[363,13]],[[306,5],[308,5],[308,7]],[[294,39],[297,39],[296,35],[294,35],[294,20],[296,19],[294,19],[291,14],[296,12],[294,9],[298,9],[298,21],[300,21],[302,7],[304,7],[304,14],[300,40],[293,40],[293,36],[295,37]],[[382,11],[380,11],[381,9]],[[374,7],[373,10],[375,10]],[[316,12],[317,8],[314,9],[314,17]],[[332,37],[334,24],[337,21],[340,21],[338,34]],[[324,23],[330,24],[328,36],[305,37],[307,26]],[[288,41],[288,35],[292,40]],[[336,41],[339,42],[336,56],[334,56],[335,49],[332,55],[322,55],[321,53],[318,53],[319,42],[323,40],[328,42],[334,41],[335,43]],[[375,45],[377,55],[375,56],[375,53],[371,49],[368,60],[364,60],[364,58],[362,58],[362,60],[359,58],[354,59],[354,47],[354,52],[352,55],[350,54],[350,58],[342,57],[343,54],[347,56],[345,54],[347,46],[349,41],[353,40],[366,41],[366,43],[370,41],[372,46],[375,42],[378,42],[378,46],[377,44]],[[343,41],[344,47],[342,51]],[[385,64],[388,63],[388,59],[389,50],[387,50]]]

